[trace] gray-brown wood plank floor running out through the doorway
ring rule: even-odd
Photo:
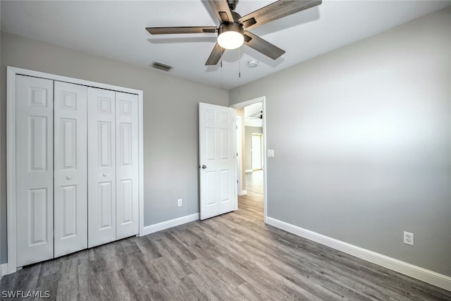
[[[451,292],[263,222],[261,173],[235,212],[28,266],[4,290],[51,300],[451,300]],[[0,292],[1,293],[1,292]]]

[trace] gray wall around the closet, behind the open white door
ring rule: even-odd
[[[198,103],[228,106],[227,90],[2,32],[0,263],[7,259],[6,66],[143,90],[144,226],[199,212]]]

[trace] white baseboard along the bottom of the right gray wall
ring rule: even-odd
[[[438,274],[435,271],[430,271],[428,269],[415,266],[414,264],[409,264],[407,262],[402,262],[401,260],[394,259],[392,257],[385,256],[370,250],[366,250],[362,247],[357,247],[351,245],[347,242],[342,242],[341,240],[336,240],[335,238],[329,238],[326,235],[322,235],[313,231],[294,226],[290,223],[285,223],[284,221],[279,221],[278,219],[273,219],[271,217],[266,217],[266,223],[276,228],[280,228],[287,232],[293,233],[295,235],[313,240],[314,242],[319,242],[321,245],[327,245],[335,250],[339,250],[350,254],[352,256],[364,259],[373,264],[378,264],[384,266],[387,269],[397,271],[398,273],[419,279],[426,283],[438,286],[439,288],[444,288],[445,290],[451,291],[451,277],[443,274]]]

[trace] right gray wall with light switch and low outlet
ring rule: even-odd
[[[230,90],[266,96],[268,216],[451,276],[450,30],[447,8]]]

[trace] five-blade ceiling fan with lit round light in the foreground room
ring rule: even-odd
[[[209,59],[206,60],[206,66],[216,65],[225,49],[237,49],[242,44],[246,44],[275,60],[285,54],[285,51],[248,30],[321,3],[321,0],[279,0],[242,17],[235,12],[238,0],[209,0],[211,8],[220,21],[218,27],[146,27],[146,30],[152,35],[217,33],[218,42],[211,51]]]

